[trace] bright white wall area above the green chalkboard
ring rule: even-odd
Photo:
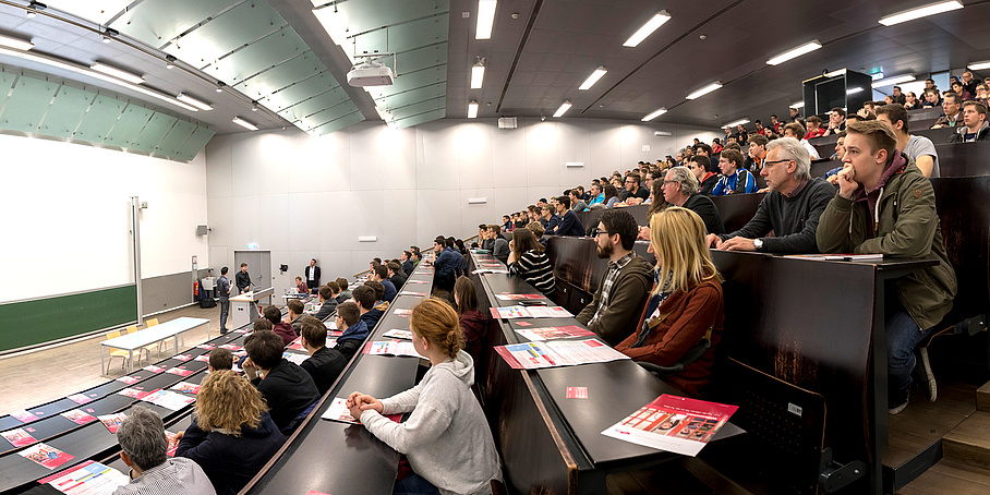
[[[189,164],[0,134],[4,240],[0,301],[133,283],[130,197],[142,213],[142,277],[206,261],[206,160]]]

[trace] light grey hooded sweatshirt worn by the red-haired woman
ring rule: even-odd
[[[405,454],[416,474],[443,494],[491,494],[502,480],[495,442],[471,393],[474,362],[464,351],[430,369],[415,387],[382,399],[385,414],[412,411],[396,423],[367,410],[361,423],[382,442]]]

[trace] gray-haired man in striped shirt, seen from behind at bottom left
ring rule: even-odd
[[[113,495],[216,495],[206,473],[191,459],[169,458],[161,418],[142,406],[128,411],[117,430],[120,458],[131,468],[131,482]]]

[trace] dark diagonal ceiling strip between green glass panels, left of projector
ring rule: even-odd
[[[343,48],[334,43],[316,15],[313,15],[313,3],[310,0],[279,0],[269,2],[269,4],[295,29],[316,58],[326,65],[364,119],[381,121],[382,118],[378,117],[378,111],[375,109],[375,100],[371,95],[364,89],[347,84],[347,73],[351,70],[351,61],[347,58]]]

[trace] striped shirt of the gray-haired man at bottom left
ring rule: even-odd
[[[200,464],[184,457],[174,457],[118,487],[113,495],[216,495],[216,493]]]

